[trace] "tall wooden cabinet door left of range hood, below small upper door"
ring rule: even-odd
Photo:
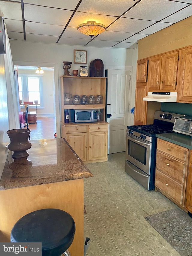
[[[143,97],[147,95],[147,86],[137,84],[135,94],[135,115],[134,125],[146,124],[147,101],[143,101]]]

